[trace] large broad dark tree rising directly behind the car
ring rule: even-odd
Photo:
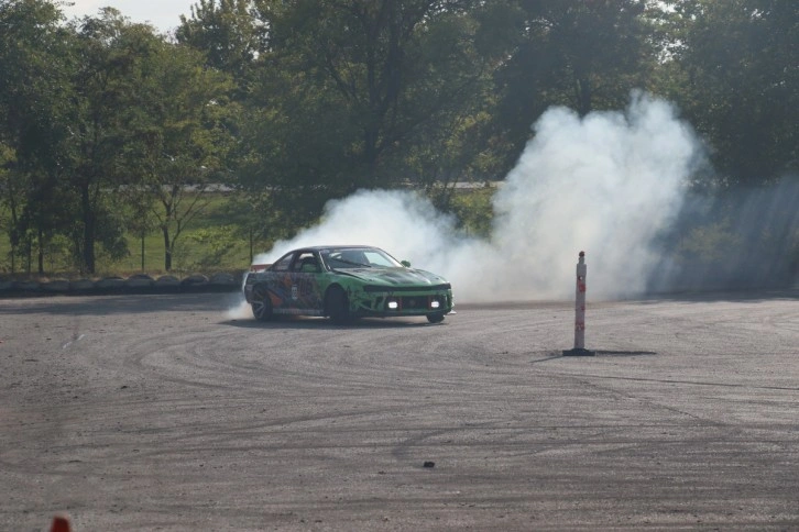
[[[471,4],[258,2],[269,38],[249,113],[248,185],[269,188],[271,206],[291,203],[303,223],[330,198],[403,182],[408,157],[440,143],[488,80]]]

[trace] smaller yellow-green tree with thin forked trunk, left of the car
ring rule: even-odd
[[[205,190],[225,175],[236,108],[228,76],[205,67],[200,53],[157,40],[150,44],[123,166],[133,189],[153,199],[168,271],[177,240],[208,204]]]

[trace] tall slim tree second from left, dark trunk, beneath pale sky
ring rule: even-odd
[[[123,218],[113,203],[124,180],[121,159],[138,112],[143,58],[156,37],[152,26],[131,24],[112,8],[83,19],[76,31],[78,68],[64,182],[77,206],[73,240],[80,269],[95,273],[98,242],[111,257],[128,253]]]

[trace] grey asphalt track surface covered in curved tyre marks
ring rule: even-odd
[[[0,530],[799,530],[799,292],[0,300]]]

